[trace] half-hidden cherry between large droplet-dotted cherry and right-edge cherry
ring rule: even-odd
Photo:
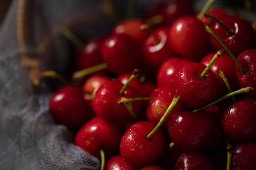
[[[216,52],[206,55],[203,59],[201,59],[200,62],[208,66],[210,60],[213,58],[215,54]],[[234,60],[229,56],[229,54],[224,54],[223,56],[220,56],[210,68],[213,74],[215,74],[215,76],[219,79],[220,91],[222,95],[228,94],[229,90],[225,85],[224,81],[222,80],[222,78],[219,76],[218,69],[222,69],[222,71],[224,72],[225,76],[229,81],[229,85],[231,86],[232,91],[236,91],[240,88],[240,86],[238,84],[238,79],[236,76],[235,65],[236,64]]]

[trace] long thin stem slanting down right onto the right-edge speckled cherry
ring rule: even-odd
[[[208,33],[210,33],[212,36],[214,36],[214,38],[216,38],[218,40],[218,42],[223,46],[223,48],[228,51],[229,55],[232,57],[232,59],[235,61],[235,63],[238,65],[238,68],[243,72],[244,76],[246,75],[246,70],[244,68],[242,68],[241,64],[238,62],[238,59],[234,56],[234,54],[229,50],[229,48],[224,44],[223,41],[220,40],[219,36],[216,35],[212,29],[210,28],[210,26],[208,25],[204,25],[204,28],[206,29],[206,31]]]

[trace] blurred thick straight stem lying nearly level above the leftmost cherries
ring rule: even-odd
[[[101,71],[106,68],[108,68],[108,65],[106,63],[98,64],[98,65],[95,65],[95,66],[92,66],[89,68],[85,68],[85,69],[82,69],[82,70],[79,70],[79,71],[73,73],[72,79],[82,78],[84,76],[90,75],[92,73]]]

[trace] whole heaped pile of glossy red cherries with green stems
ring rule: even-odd
[[[77,50],[49,108],[101,170],[256,170],[256,32],[208,12],[155,4]]]

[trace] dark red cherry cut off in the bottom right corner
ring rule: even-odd
[[[238,144],[232,153],[230,170],[255,170],[256,143]]]

